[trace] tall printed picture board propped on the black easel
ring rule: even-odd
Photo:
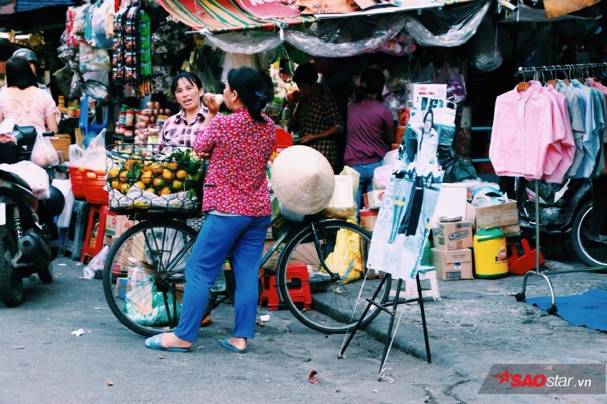
[[[441,156],[455,134],[455,104],[419,96],[385,190],[367,267],[415,279],[428,242],[430,219],[443,181]]]

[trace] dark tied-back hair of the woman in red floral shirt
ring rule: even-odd
[[[268,104],[268,98],[263,94],[263,79],[259,71],[247,66],[233,68],[228,71],[228,85],[238,93],[255,122],[267,122],[261,111]]]

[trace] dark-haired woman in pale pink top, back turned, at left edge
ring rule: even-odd
[[[36,85],[38,80],[27,59],[13,56],[6,62],[7,89],[0,93],[0,121],[15,119],[19,126],[33,125],[39,133],[57,133],[59,110],[47,91]]]

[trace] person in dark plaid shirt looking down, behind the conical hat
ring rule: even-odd
[[[329,91],[316,83],[318,73],[311,63],[299,65],[293,81],[297,83],[302,99],[291,118],[291,130],[299,131],[300,144],[310,146],[327,157],[335,173],[337,167],[337,145],[334,135],[341,133],[344,119],[337,103]]]

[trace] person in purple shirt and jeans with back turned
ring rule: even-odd
[[[385,76],[369,68],[361,73],[361,85],[348,104],[347,137],[344,164],[361,174],[356,204],[362,207],[362,194],[373,190],[373,170],[382,165],[385,153],[396,141],[394,121],[382,104]]]

